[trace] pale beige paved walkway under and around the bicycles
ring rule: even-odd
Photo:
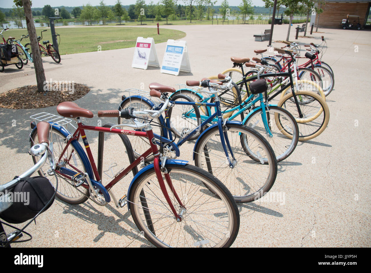
[[[286,37],[287,25],[275,26],[274,40]],[[159,68],[131,68],[133,48],[102,52],[62,55],[56,64],[44,58],[46,79],[74,80],[91,88],[76,101],[93,113],[99,109],[117,109],[127,88],[148,89],[150,82],[165,85],[185,83],[216,75],[231,67],[230,56],[253,57],[254,49],[265,48],[267,42],[255,42],[266,25],[239,26],[167,26],[187,33],[192,73],[172,76]],[[319,137],[301,142],[293,154],[279,163],[279,173],[272,192],[284,194],[285,200],[257,200],[240,204],[240,232],[236,247],[370,247],[370,93],[371,32],[342,29],[320,29],[313,39],[299,42],[319,43],[324,35],[328,50],[324,60],[335,73],[335,89],[328,96],[331,112],[328,128]],[[154,29],[153,37],[156,39]],[[302,33],[301,33],[302,34]],[[295,35],[292,27],[291,39]],[[118,37],[119,40],[119,37]],[[282,44],[273,44],[273,46]],[[104,49],[104,45],[102,46]],[[165,43],[156,44],[160,62]],[[33,65],[23,70],[6,68],[0,73],[0,92],[23,85],[36,84]],[[56,107],[32,110],[0,109],[0,175],[2,182],[11,180],[32,165],[25,154],[29,149],[29,116],[52,112]],[[84,121],[97,124],[98,117]],[[102,123],[116,122],[105,118]],[[12,124],[16,126],[12,126]],[[98,134],[88,134],[96,153]],[[95,140],[95,142],[94,142]],[[181,149],[181,159],[191,159],[192,143]],[[106,149],[106,151],[110,151]],[[122,158],[112,147],[112,159]],[[126,155],[124,155],[126,157]],[[112,160],[112,161],[111,161]],[[108,169],[108,167],[104,167]],[[126,193],[131,177],[114,190]],[[283,196],[283,195],[282,195]],[[284,203],[284,204],[283,204]],[[127,208],[116,210],[114,204],[101,207],[92,201],[69,205],[56,199],[53,206],[31,224],[27,231],[33,240],[23,246],[112,246],[147,247],[140,237]]]

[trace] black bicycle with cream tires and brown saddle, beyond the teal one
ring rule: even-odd
[[[314,82],[308,80],[296,80],[293,81],[293,76],[296,76],[296,64],[292,55],[292,50],[283,50],[275,48],[281,54],[287,54],[291,58],[289,60],[287,72],[273,72],[263,73],[260,78],[268,79],[270,84],[270,90],[267,91],[266,101],[270,102],[279,94],[280,100],[277,104],[278,107],[285,108],[292,114],[299,126],[299,141],[305,141],[317,137],[321,134],[329,121],[329,109],[325,102],[325,95],[322,89]],[[236,60],[239,62],[239,60]],[[291,71],[291,63],[293,63],[294,73]],[[246,92],[244,99],[249,95],[249,88],[247,83],[253,82],[258,79],[257,75],[247,77],[251,73],[257,73],[257,70],[253,72],[243,71],[243,64],[247,67],[254,67],[259,64],[239,62],[234,63],[238,65],[242,71],[242,80],[239,81],[241,92]],[[263,69],[269,68],[269,66],[260,66]],[[245,87],[244,91],[242,88]],[[295,91],[296,88],[296,91]],[[291,89],[291,92],[289,92]],[[314,91],[314,92],[313,92]],[[321,94],[317,95],[315,92]]]

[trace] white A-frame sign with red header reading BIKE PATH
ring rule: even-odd
[[[160,66],[158,63],[155,41],[153,38],[137,38],[131,67],[147,69],[148,66]]]

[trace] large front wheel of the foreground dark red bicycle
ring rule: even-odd
[[[162,178],[182,220],[175,219],[152,168],[134,181],[129,193],[130,211],[138,229],[157,247],[231,246],[240,217],[227,188],[213,175],[192,165],[169,164],[166,169],[171,188],[163,173]]]

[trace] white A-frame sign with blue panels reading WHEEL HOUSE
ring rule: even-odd
[[[178,76],[179,71],[191,72],[186,41],[167,40],[161,73]]]

